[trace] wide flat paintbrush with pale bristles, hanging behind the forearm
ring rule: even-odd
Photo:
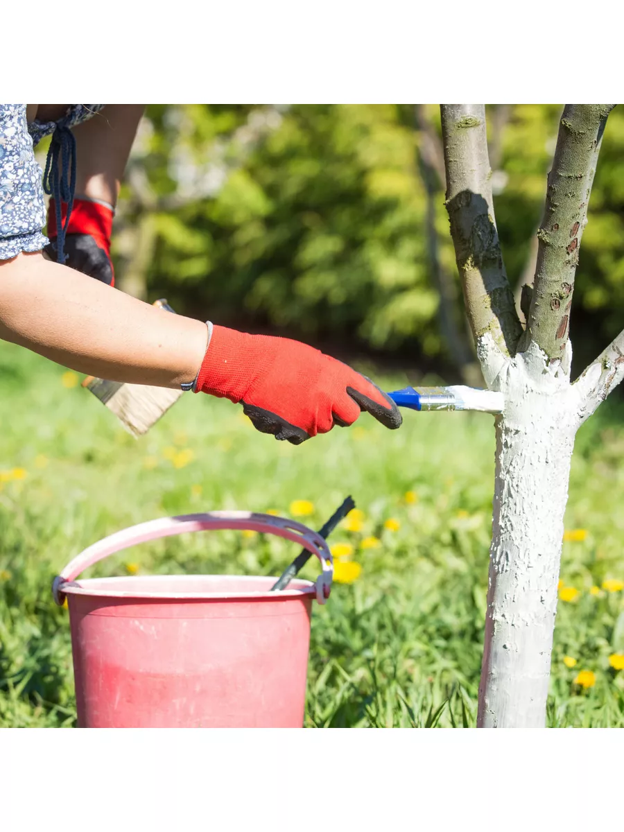
[[[176,314],[166,300],[153,304],[161,310]],[[166,387],[151,387],[147,384],[126,384],[121,381],[106,381],[87,376],[82,387],[100,399],[102,404],[115,414],[128,433],[136,438],[142,436],[158,421],[172,404],[180,399],[182,390]]]

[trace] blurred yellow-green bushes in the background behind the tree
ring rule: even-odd
[[[517,290],[542,216],[561,105],[488,107],[498,229]],[[438,106],[422,110],[442,152]],[[428,228],[414,105],[149,106],[117,222],[121,288],[179,311],[448,367],[438,269],[457,270],[439,173]],[[609,118],[572,339],[592,357],[624,319],[624,113]],[[124,285],[124,281],[126,285]]]

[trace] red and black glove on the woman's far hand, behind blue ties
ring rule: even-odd
[[[67,217],[67,203],[61,203],[62,223]],[[113,211],[102,202],[75,199],[65,237],[63,249],[67,255],[66,264],[82,274],[115,285],[115,273],[111,261],[111,231]],[[53,199],[47,211],[47,236],[50,245],[47,254],[57,259],[57,214]]]

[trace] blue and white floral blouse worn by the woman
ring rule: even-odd
[[[0,104],[0,260],[21,251],[41,251],[46,225],[42,169],[33,148],[57,126],[73,127],[102,110],[103,104],[71,104],[59,121],[27,124],[26,104]]]

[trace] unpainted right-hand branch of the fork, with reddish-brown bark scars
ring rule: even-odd
[[[537,265],[522,348],[533,341],[549,359],[567,344],[574,276],[602,133],[614,104],[567,104],[548,175],[546,208],[537,232]]]

